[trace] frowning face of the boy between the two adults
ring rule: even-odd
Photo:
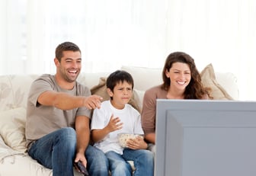
[[[114,91],[107,88],[107,93],[112,97],[111,104],[117,109],[123,109],[125,104],[130,101],[133,95],[133,86],[128,82],[118,82],[114,87]]]

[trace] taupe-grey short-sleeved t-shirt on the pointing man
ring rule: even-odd
[[[27,146],[30,142],[40,139],[46,134],[59,130],[62,127],[75,128],[75,117],[85,116],[91,118],[91,110],[79,107],[73,110],[60,110],[53,106],[43,106],[37,103],[37,98],[44,91],[59,91],[76,96],[88,97],[91,95],[89,88],[75,83],[72,90],[60,88],[54,75],[41,75],[30,87],[27,99],[26,139]],[[64,101],[64,100],[63,100]]]

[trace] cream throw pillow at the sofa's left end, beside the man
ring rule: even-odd
[[[0,112],[0,135],[6,145],[19,152],[26,152],[26,109],[18,107]]]

